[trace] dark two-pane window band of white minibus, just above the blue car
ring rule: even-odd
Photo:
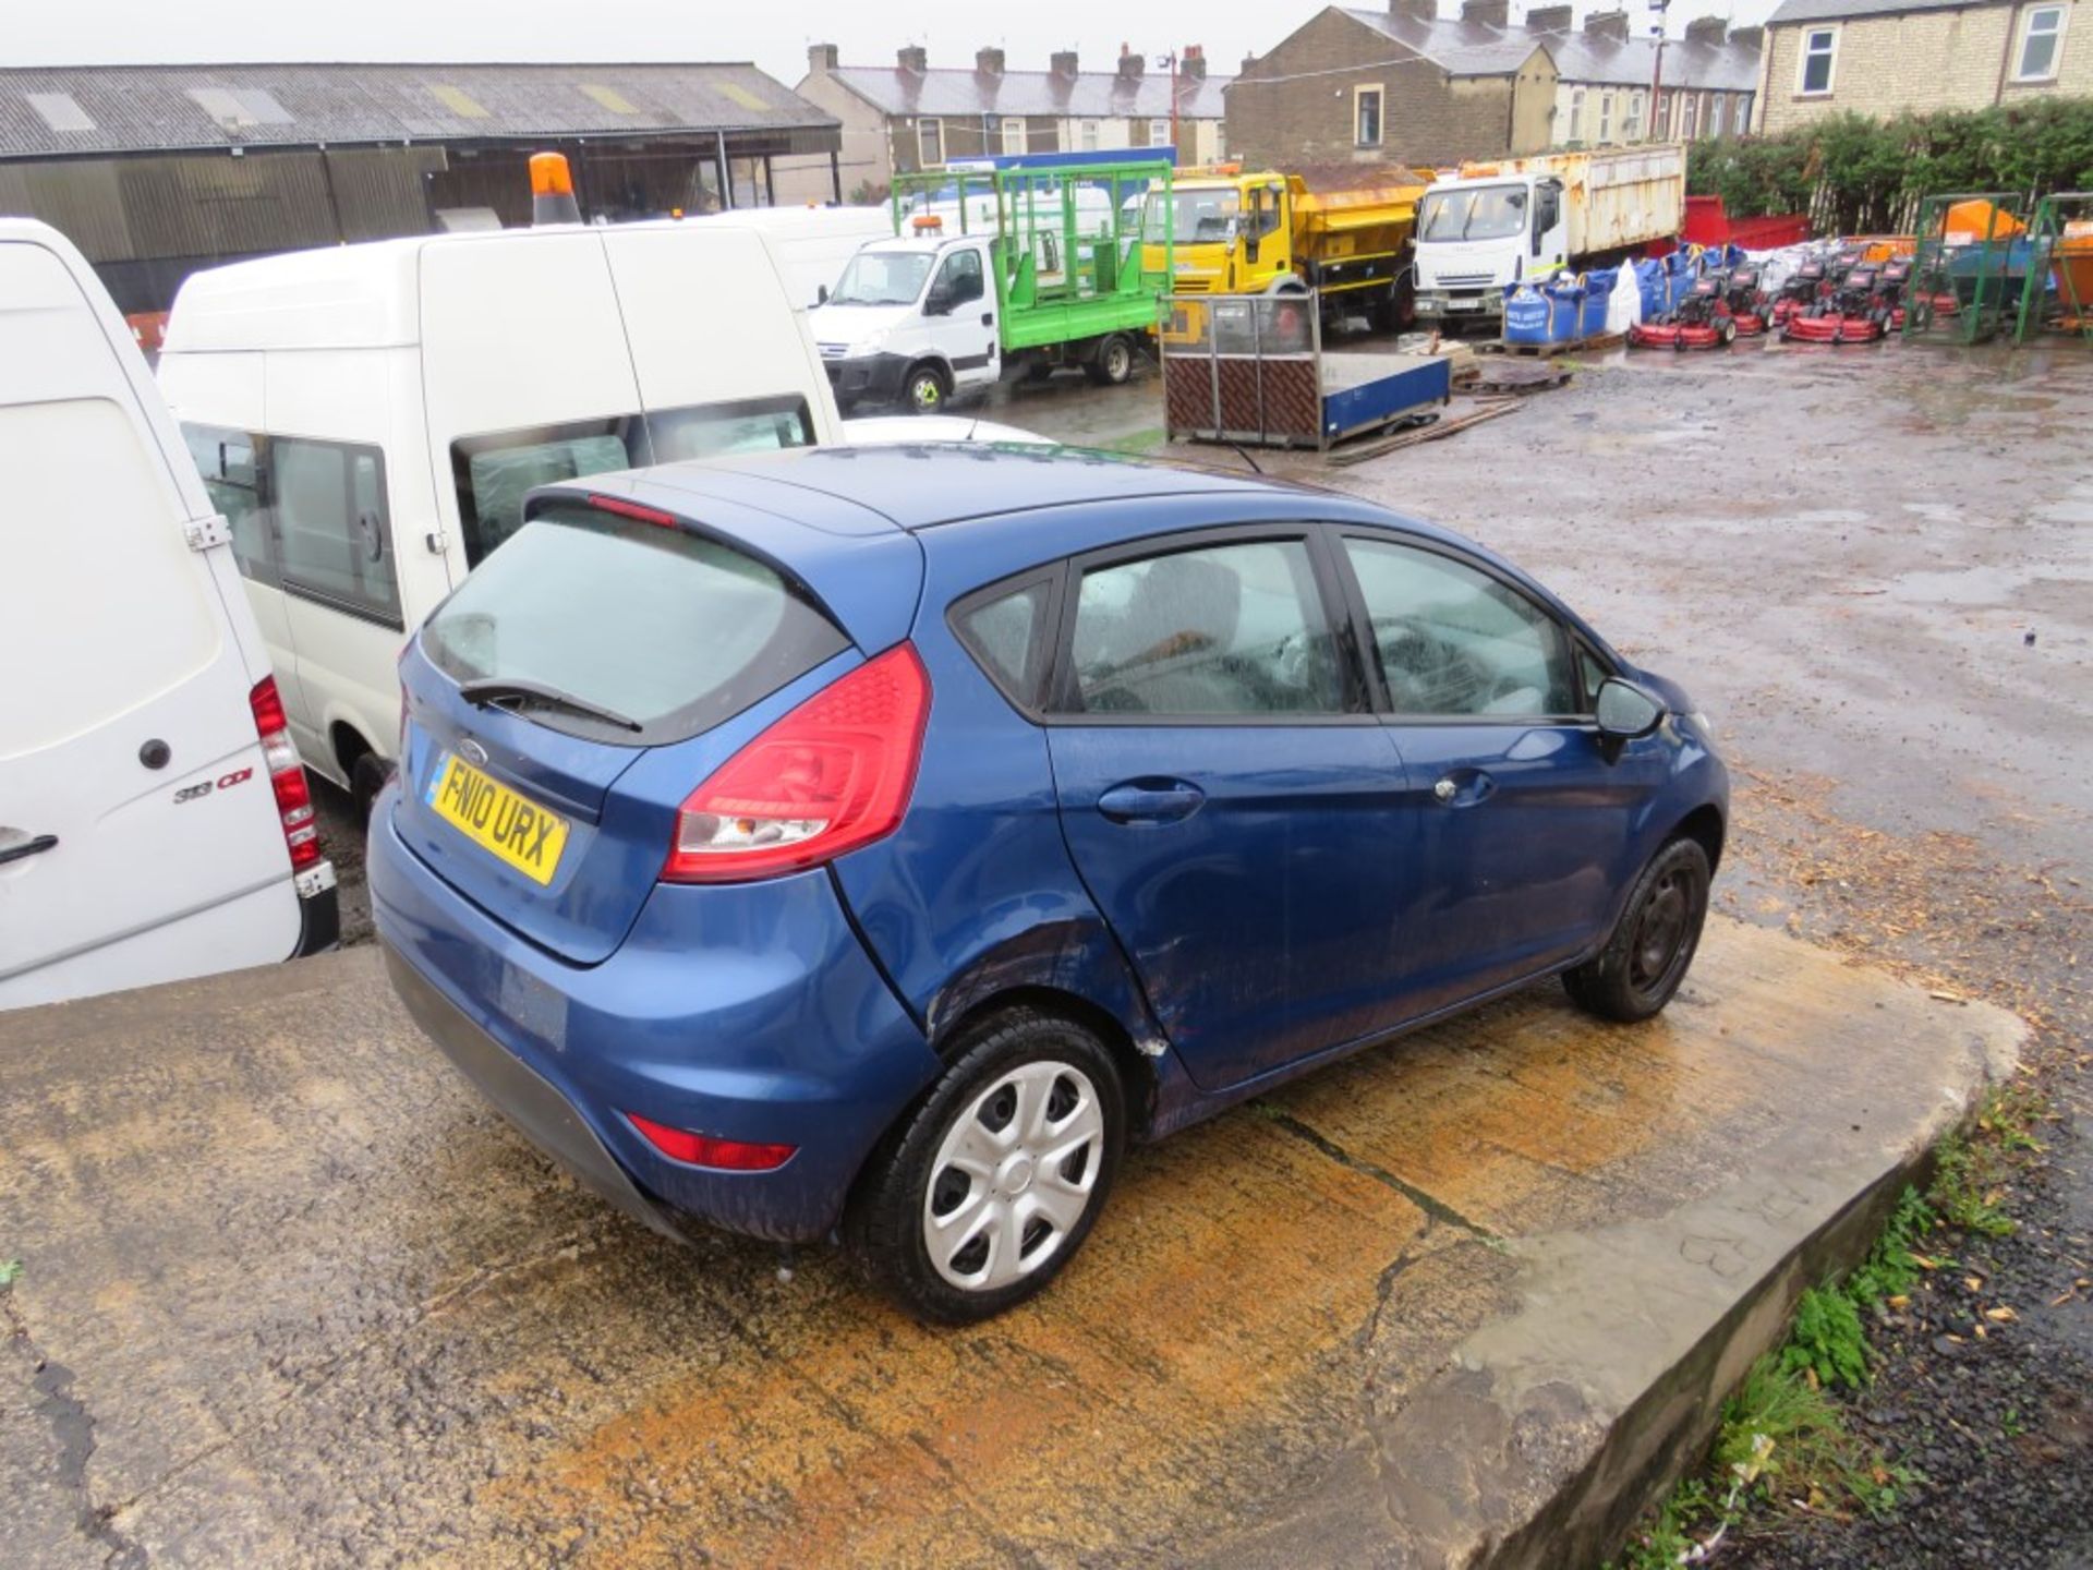
[[[450,444],[450,471],[458,486],[465,565],[477,567],[523,528],[523,498],[538,486],[651,463],[806,446],[814,446],[814,417],[797,396],[460,438]]]

